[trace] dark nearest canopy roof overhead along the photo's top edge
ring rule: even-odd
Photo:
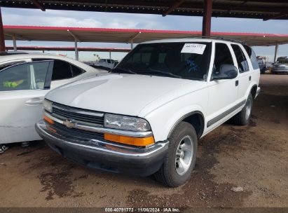
[[[203,0],[3,0],[0,6],[40,8],[42,11],[100,11],[116,13],[146,13],[160,15],[203,16]],[[287,0],[213,0],[213,17],[259,18],[288,20]]]

